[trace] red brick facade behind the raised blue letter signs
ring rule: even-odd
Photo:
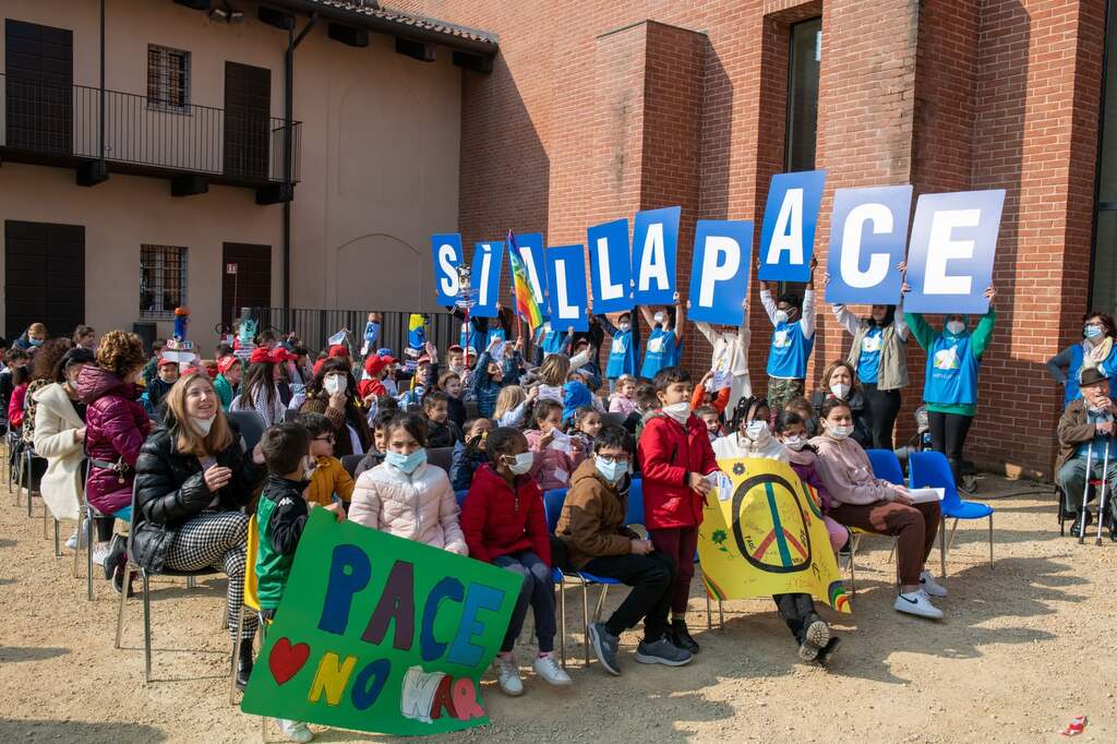
[[[821,16],[820,261],[836,188],[1005,189],[997,328],[967,456],[1050,474],[1061,393],[1043,363],[1087,309],[1104,0],[392,4],[499,35],[494,71],[464,83],[467,242],[509,227],[584,242],[595,222],[680,204],[684,294],[697,219],[754,220],[758,236],[783,169],[790,23]],[[750,357],[763,391],[770,327],[755,288]],[[848,344],[823,305],[812,374]],[[688,333],[684,362],[700,372],[707,359]],[[920,398],[915,344],[908,361],[901,435]]]

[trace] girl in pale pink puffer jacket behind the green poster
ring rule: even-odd
[[[388,423],[384,461],[361,474],[349,518],[397,537],[468,555],[446,470],[427,464],[427,421],[401,413]]]

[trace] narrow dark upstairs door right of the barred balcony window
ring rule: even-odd
[[[225,64],[225,173],[252,181],[268,178],[271,70]]]

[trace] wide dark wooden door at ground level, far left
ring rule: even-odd
[[[9,338],[35,322],[68,336],[85,322],[85,228],[4,222],[4,318]]]

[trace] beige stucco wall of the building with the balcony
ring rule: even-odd
[[[195,105],[223,106],[226,60],[269,68],[271,113],[281,116],[286,34],[256,20],[255,4],[235,4],[245,21],[230,26],[169,0],[108,0],[106,88],[143,95],[147,45],[156,44],[191,53]],[[71,29],[74,82],[97,85],[97,2],[0,0],[0,11]],[[305,22],[300,18],[299,28]],[[0,59],[2,47],[0,35]],[[351,48],[331,41],[322,22],[298,48],[295,69],[303,132],[292,305],[430,309],[428,237],[458,222],[461,71],[450,50],[439,48],[438,59],[423,64],[395,54],[385,36]],[[281,207],[257,206],[248,189],[211,185],[207,194],[175,199],[165,180],[113,174],[80,188],[73,170],[4,163],[0,220],[7,219],[85,226],[86,322],[98,331],[140,319],[144,242],[189,248],[192,337],[206,347],[220,318],[222,242],[273,246],[273,304],[281,302]],[[169,330],[170,323],[160,324],[161,334]]]

